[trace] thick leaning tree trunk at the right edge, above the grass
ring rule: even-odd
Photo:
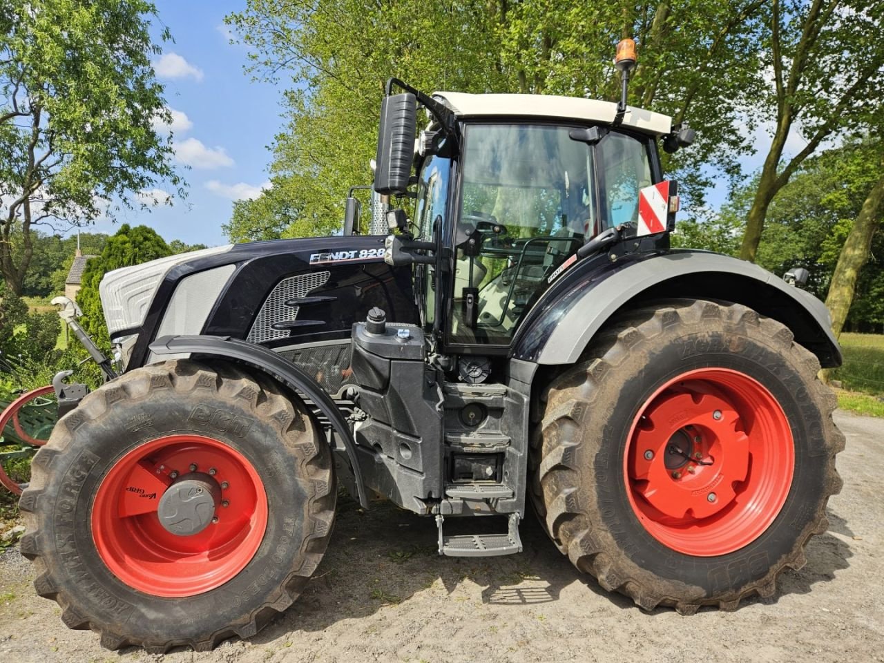
[[[872,238],[880,225],[881,204],[884,202],[884,175],[872,187],[863,202],[859,216],[847,235],[847,240],[838,255],[834,267],[832,283],[826,297],[826,306],[832,314],[832,331],[835,337],[841,335],[844,321],[853,302],[857,276],[869,258]]]

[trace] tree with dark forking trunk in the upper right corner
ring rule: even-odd
[[[752,112],[773,136],[747,217],[740,257],[755,261],[767,211],[823,141],[880,122],[884,97],[884,4],[865,0],[772,0],[762,65],[773,82]],[[804,147],[785,156],[797,130]]]

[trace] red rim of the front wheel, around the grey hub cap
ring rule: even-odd
[[[157,507],[169,486],[194,476],[216,482],[217,521],[179,536],[164,528]],[[202,435],[157,438],[126,453],[103,478],[92,507],[95,548],[110,571],[161,597],[193,596],[231,580],[255,556],[266,529],[267,495],[255,468]]]

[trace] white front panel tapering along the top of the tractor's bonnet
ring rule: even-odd
[[[172,267],[194,258],[225,253],[232,247],[232,244],[228,244],[225,247],[204,248],[202,251],[170,255],[149,263],[109,271],[102,278],[98,293],[102,298],[104,320],[110,336],[144,324],[156,289]]]

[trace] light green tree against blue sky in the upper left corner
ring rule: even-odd
[[[171,137],[153,128],[171,119],[150,65],[153,17],[145,0],[4,2],[0,273],[13,293],[24,289],[34,225],[113,217],[147,187],[184,193]]]

